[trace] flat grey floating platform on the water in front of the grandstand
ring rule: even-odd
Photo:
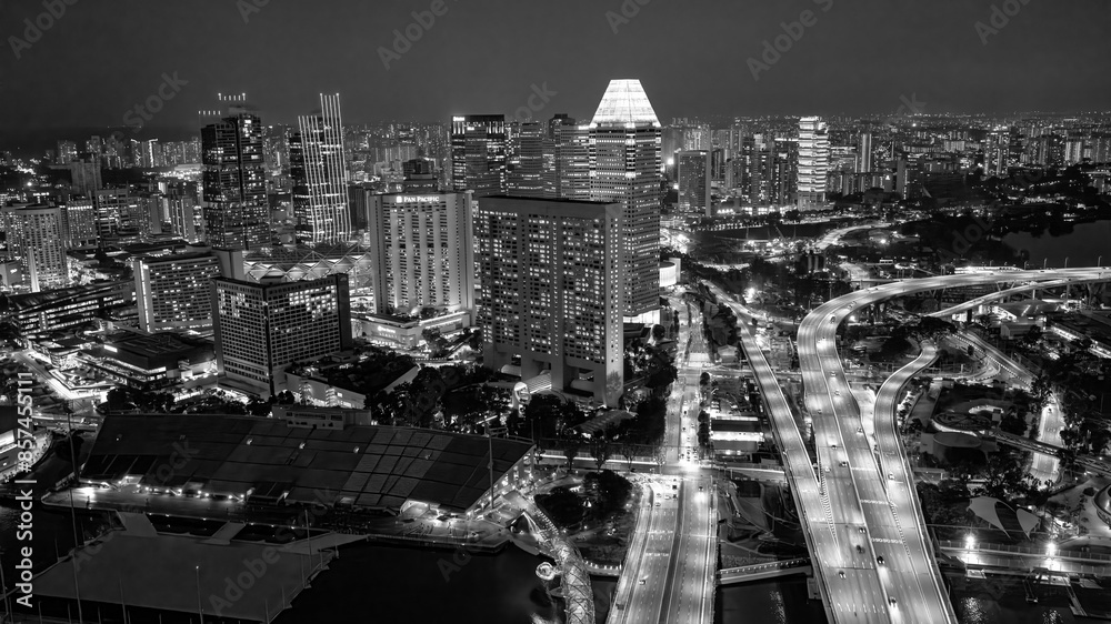
[[[200,608],[209,618],[269,623],[306,588],[307,576],[327,567],[334,556],[322,551],[309,554],[292,544],[159,534],[146,516],[124,515],[127,530],[109,531],[39,574],[34,578],[37,601],[48,596],[74,604],[77,574],[87,618],[88,603],[92,602],[122,603],[129,612],[150,608],[196,615]],[[252,563],[253,573],[244,562]],[[229,578],[240,583],[238,593],[229,590]],[[103,611],[120,614],[119,607]]]

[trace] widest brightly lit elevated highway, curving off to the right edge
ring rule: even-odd
[[[849,551],[849,556],[852,566],[862,574],[872,573],[878,576],[888,598],[880,603],[887,611],[884,620],[931,624],[957,621],[934,561],[929,554],[924,527],[917,514],[909,516],[907,512],[899,512],[913,507],[910,496],[917,494],[913,492],[912,481],[905,475],[901,477],[901,484],[888,483],[895,481],[894,471],[890,471],[892,479],[888,479],[863,435],[860,409],[852,397],[837,351],[838,325],[858,306],[915,292],[1015,281],[1107,281],[1109,278],[1109,270],[1080,268],[907,280],[834,299],[803,320],[799,328],[799,358],[807,407],[813,416],[819,463],[829,471],[823,475],[829,484],[828,506],[833,511],[833,522],[839,533],[844,531],[851,534],[851,527],[855,526],[858,535],[867,537],[868,543],[859,545],[868,554],[868,558],[853,556],[853,551]],[[810,513],[817,513],[817,510]],[[859,550],[855,552],[860,554]],[[839,594],[835,587],[840,575],[834,577],[834,571],[825,563],[821,557],[815,558],[831,594]],[[857,604],[874,604],[872,596],[857,595],[855,598]],[[838,621],[843,620],[843,612],[834,613]]]

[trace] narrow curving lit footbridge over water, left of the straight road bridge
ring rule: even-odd
[[[540,550],[556,560],[559,566],[560,588],[567,603],[568,624],[594,624],[594,593],[590,587],[590,573],[579,550],[563,539],[548,514],[536,502],[518,491],[502,496],[509,504],[523,511],[529,525],[537,533]]]

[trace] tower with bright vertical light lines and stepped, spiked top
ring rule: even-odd
[[[351,238],[339,94],[321,94],[320,109],[298,118],[289,141],[297,239],[310,244]]]

